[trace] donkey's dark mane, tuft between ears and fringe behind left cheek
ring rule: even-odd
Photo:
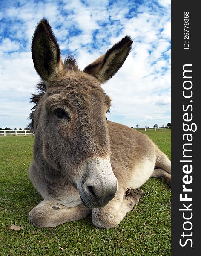
[[[72,55],[68,55],[64,61],[63,61],[63,67],[65,70],[78,70],[78,65],[77,65],[77,61],[76,58]],[[31,120],[31,122],[28,125],[28,128],[31,129],[31,131],[34,133],[34,113],[36,111],[37,108],[37,104],[40,101],[40,99],[44,96],[44,94],[46,93],[46,84],[43,81],[40,81],[37,85],[37,93],[32,94],[31,102],[34,103],[35,105],[33,106],[33,108],[31,110],[33,110],[30,115],[29,115],[29,120]]]

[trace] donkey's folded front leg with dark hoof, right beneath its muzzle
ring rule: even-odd
[[[118,189],[115,197],[104,207],[92,209],[92,221],[96,227],[117,227],[126,213],[132,210],[143,195],[141,189]]]

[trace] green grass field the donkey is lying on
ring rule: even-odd
[[[143,132],[171,158],[171,130]],[[40,201],[28,178],[34,137],[0,137],[0,255],[171,255],[171,190],[150,179],[145,195],[117,228],[100,230],[91,218],[56,228],[29,224],[29,211]],[[14,223],[23,230],[9,230]]]

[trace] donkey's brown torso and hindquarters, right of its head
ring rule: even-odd
[[[171,162],[148,136],[135,129],[108,122],[111,143],[111,164],[115,176],[125,188],[139,188],[162,168],[161,176],[171,185]],[[153,173],[155,169],[155,172]],[[156,171],[157,170],[157,171]]]

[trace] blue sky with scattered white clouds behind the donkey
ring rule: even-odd
[[[123,36],[134,40],[118,73],[103,85],[112,98],[108,119],[128,126],[171,122],[170,0],[0,0],[0,128],[25,128],[29,98],[40,81],[30,45],[46,17],[62,56],[81,70]]]

